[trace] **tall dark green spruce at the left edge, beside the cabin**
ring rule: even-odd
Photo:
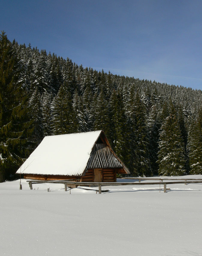
[[[0,35],[0,182],[9,179],[29,154],[26,91],[22,66],[4,32]]]

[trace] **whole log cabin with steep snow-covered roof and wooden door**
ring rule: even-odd
[[[25,179],[116,182],[129,174],[103,131],[46,136],[17,170]]]

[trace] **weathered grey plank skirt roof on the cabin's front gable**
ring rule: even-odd
[[[87,164],[87,169],[122,167],[121,162],[115,157],[107,145],[100,143],[94,145]]]

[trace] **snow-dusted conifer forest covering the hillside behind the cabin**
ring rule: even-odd
[[[132,176],[202,174],[202,91],[78,66],[0,35],[0,182],[44,136],[104,130]]]

